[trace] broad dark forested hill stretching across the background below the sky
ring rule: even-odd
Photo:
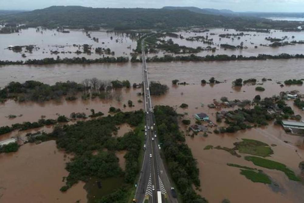
[[[273,28],[270,20],[234,16],[207,15],[189,10],[151,8],[91,8],[51,6],[30,12],[0,16],[0,22],[26,24],[29,27],[56,28],[106,27],[116,30],[206,26],[226,28]]]

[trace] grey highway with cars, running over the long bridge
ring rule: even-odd
[[[146,113],[145,152],[134,199],[136,203],[177,203],[172,197],[171,184],[160,156],[153,106],[150,97],[144,39],[142,40],[144,108]],[[160,200],[161,198],[161,200]]]

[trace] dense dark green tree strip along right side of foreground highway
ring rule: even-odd
[[[178,114],[170,106],[154,108],[158,138],[163,143],[163,151],[169,172],[182,195],[183,202],[208,202],[193,189],[200,187],[199,169],[191,149],[185,144],[185,137],[178,129]]]

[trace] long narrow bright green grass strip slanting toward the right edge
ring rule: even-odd
[[[245,156],[245,160],[252,161],[254,165],[261,166],[263,168],[282,171],[285,173],[285,175],[287,175],[289,180],[301,181],[300,178],[295,175],[295,172],[287,168],[286,165],[282,163],[255,156]]]

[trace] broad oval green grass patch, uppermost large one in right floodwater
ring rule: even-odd
[[[267,157],[273,154],[272,149],[264,142],[242,139],[241,142],[235,142],[233,145],[236,146],[240,153],[251,154],[256,156]]]

